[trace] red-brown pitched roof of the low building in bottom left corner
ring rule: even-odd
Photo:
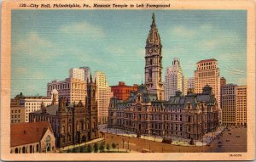
[[[52,131],[48,121],[11,124],[11,147],[40,142],[44,133]]]

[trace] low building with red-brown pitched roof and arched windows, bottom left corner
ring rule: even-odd
[[[55,136],[48,121],[11,124],[10,153],[55,152]]]

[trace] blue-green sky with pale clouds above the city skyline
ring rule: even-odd
[[[162,42],[163,75],[180,59],[185,77],[217,59],[220,77],[246,85],[246,10],[13,10],[11,97],[46,95],[70,68],[103,71],[110,86],[141,84],[152,13]]]

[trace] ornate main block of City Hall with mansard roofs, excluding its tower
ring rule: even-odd
[[[218,103],[211,87],[200,94],[176,96],[160,101],[144,85],[131,92],[127,101],[112,98],[108,127],[141,134],[201,139],[218,127]]]

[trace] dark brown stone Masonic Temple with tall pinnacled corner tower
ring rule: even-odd
[[[51,105],[30,114],[30,122],[48,120],[56,137],[56,147],[61,148],[95,139],[98,134],[96,109],[96,82],[87,83],[85,104],[69,103],[60,98],[58,105]]]

